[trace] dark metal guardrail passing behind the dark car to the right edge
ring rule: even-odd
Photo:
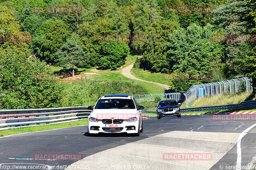
[[[239,104],[233,104],[233,105],[184,108],[184,109],[180,109],[180,112],[181,113],[188,113],[188,112],[233,110],[233,109],[256,109],[256,100],[243,101]],[[153,113],[153,114],[155,113],[156,114],[156,111],[142,111],[142,113]]]

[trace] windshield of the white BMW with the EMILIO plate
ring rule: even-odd
[[[135,109],[131,99],[101,99],[95,109]]]

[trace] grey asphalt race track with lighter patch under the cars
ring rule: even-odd
[[[0,169],[251,170],[248,165],[256,165],[255,123],[186,115],[144,120],[140,137],[88,137],[86,125],[12,135],[0,138]],[[82,154],[83,159],[33,159],[43,153]]]

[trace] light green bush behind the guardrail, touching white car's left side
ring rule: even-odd
[[[107,94],[106,84],[83,78],[72,86],[63,100],[63,107],[95,105],[100,96]]]

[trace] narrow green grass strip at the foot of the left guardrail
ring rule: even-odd
[[[87,125],[87,122],[88,122],[87,119],[84,119],[80,121],[64,122],[59,124],[44,124],[41,126],[33,126],[33,127],[26,127],[26,128],[5,129],[5,130],[0,130],[0,137],[19,134],[19,133],[25,133],[25,132],[36,132],[36,131],[42,131],[42,130],[82,126],[82,125]]]

